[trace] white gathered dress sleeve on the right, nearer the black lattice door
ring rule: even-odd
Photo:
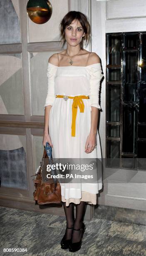
[[[92,111],[91,107],[101,109],[99,105],[100,80],[103,77],[103,74],[101,72],[102,70],[100,63],[93,64],[93,66],[90,69],[90,111]]]

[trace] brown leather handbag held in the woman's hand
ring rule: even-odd
[[[56,178],[47,178],[47,164],[54,164],[52,158],[52,148],[46,143],[44,154],[40,166],[35,173],[35,191],[33,197],[38,205],[61,203],[61,187]],[[55,170],[51,170],[51,174],[56,175]],[[31,177],[32,177],[31,176]]]

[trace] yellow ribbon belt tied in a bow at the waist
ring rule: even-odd
[[[76,117],[77,117],[77,107],[79,106],[80,112],[84,112],[84,102],[82,99],[89,99],[89,96],[79,95],[79,96],[67,96],[67,95],[56,95],[56,98],[64,98],[64,100],[74,99],[72,103],[72,136],[75,137],[76,130]]]

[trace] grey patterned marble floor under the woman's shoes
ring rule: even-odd
[[[146,225],[97,216],[84,223],[82,247],[71,253],[60,248],[65,217],[0,207],[0,256],[146,256]],[[4,248],[27,248],[27,252],[4,252]]]

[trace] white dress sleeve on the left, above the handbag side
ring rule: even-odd
[[[57,71],[57,66],[48,62],[47,67],[47,97],[45,101],[44,108],[48,105],[53,105],[55,100],[55,93],[54,93],[54,78]]]

